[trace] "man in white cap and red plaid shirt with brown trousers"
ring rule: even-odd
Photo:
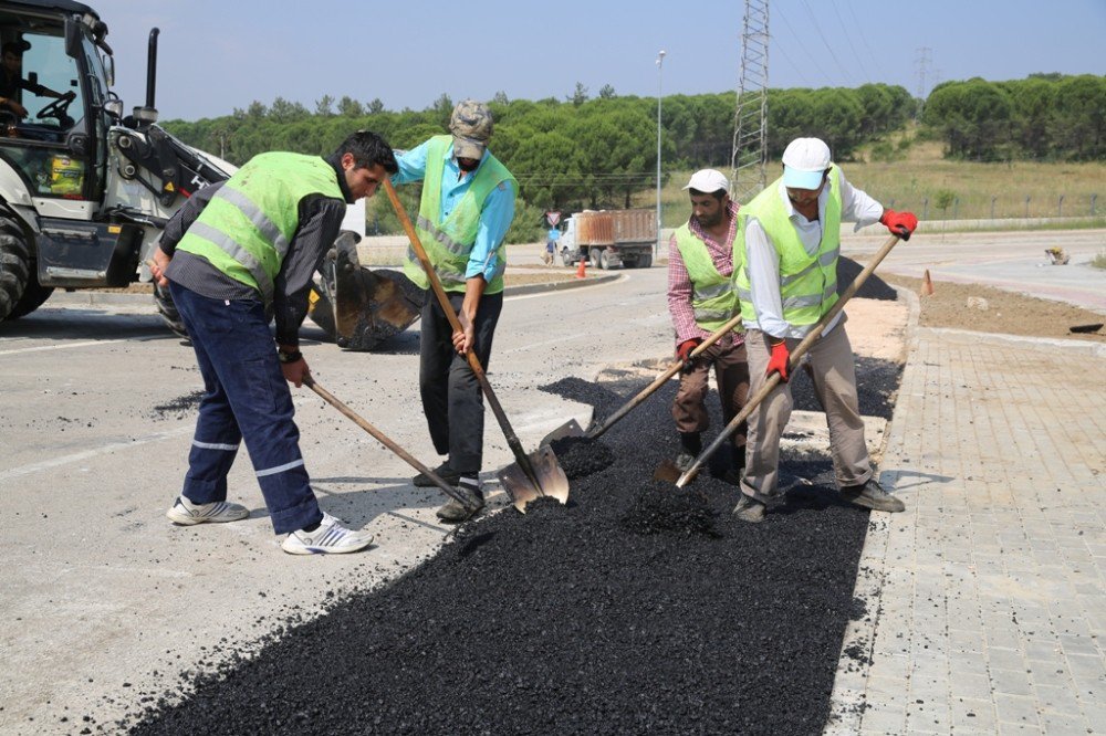
[[[676,354],[684,361],[680,386],[672,401],[672,419],[680,437],[676,466],[691,467],[702,450],[702,432],[710,425],[707,390],[711,368],[722,402],[726,424],[738,416],[749,396],[749,364],[741,328],[727,333],[696,358],[691,353],[707,337],[737,316],[733,283],[734,235],[738,204],[730,199],[730,182],[714,169],[691,175],[684,187],[691,200],[691,217],[676,229],[668,246],[668,312],[676,329]],[[745,423],[733,433],[733,469],[738,482],[745,459]]]

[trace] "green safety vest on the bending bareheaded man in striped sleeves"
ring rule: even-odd
[[[300,227],[300,201],[345,201],[334,167],[317,156],[272,153],[250,159],[216,192],[177,244],[273,301],[273,282]]]

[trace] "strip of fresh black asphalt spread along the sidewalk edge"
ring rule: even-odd
[[[586,383],[545,389],[620,403]],[[789,462],[796,490],[757,525],[709,474],[653,481],[677,452],[671,398],[666,386],[604,435],[613,462],[574,481],[566,506],[469,523],[387,587],[290,619],[250,659],[212,651],[227,664],[139,694],[149,709],[117,729],[822,733],[846,623],[866,616],[853,588],[868,513],[836,498],[825,458]]]

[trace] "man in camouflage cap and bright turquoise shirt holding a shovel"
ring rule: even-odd
[[[483,506],[483,396],[465,356],[474,350],[480,365],[488,368],[503,308],[504,239],[514,219],[519,182],[488,150],[492,117],[487,105],[472,99],[459,103],[449,119],[449,132],[451,136],[434,136],[399,154],[399,171],[392,181],[424,182],[416,229],[463,328],[455,335],[438,299],[427,292],[421,313],[419,392],[434,448],[439,455],[447,455],[436,472],[478,502],[476,511],[457,501],[438,509],[438,518],[458,523]],[[429,278],[414,249],[407,251],[404,273],[429,290]],[[434,485],[422,473],[414,483]]]

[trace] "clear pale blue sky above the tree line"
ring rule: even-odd
[[[455,101],[734,90],[744,2],[676,0],[92,0],[111,29],[126,109],[160,29],[161,119],[323,95],[422,109]],[[1106,74],[1106,0],[770,0],[769,86],[925,87],[1032,72]],[[657,52],[664,49],[658,74]]]

